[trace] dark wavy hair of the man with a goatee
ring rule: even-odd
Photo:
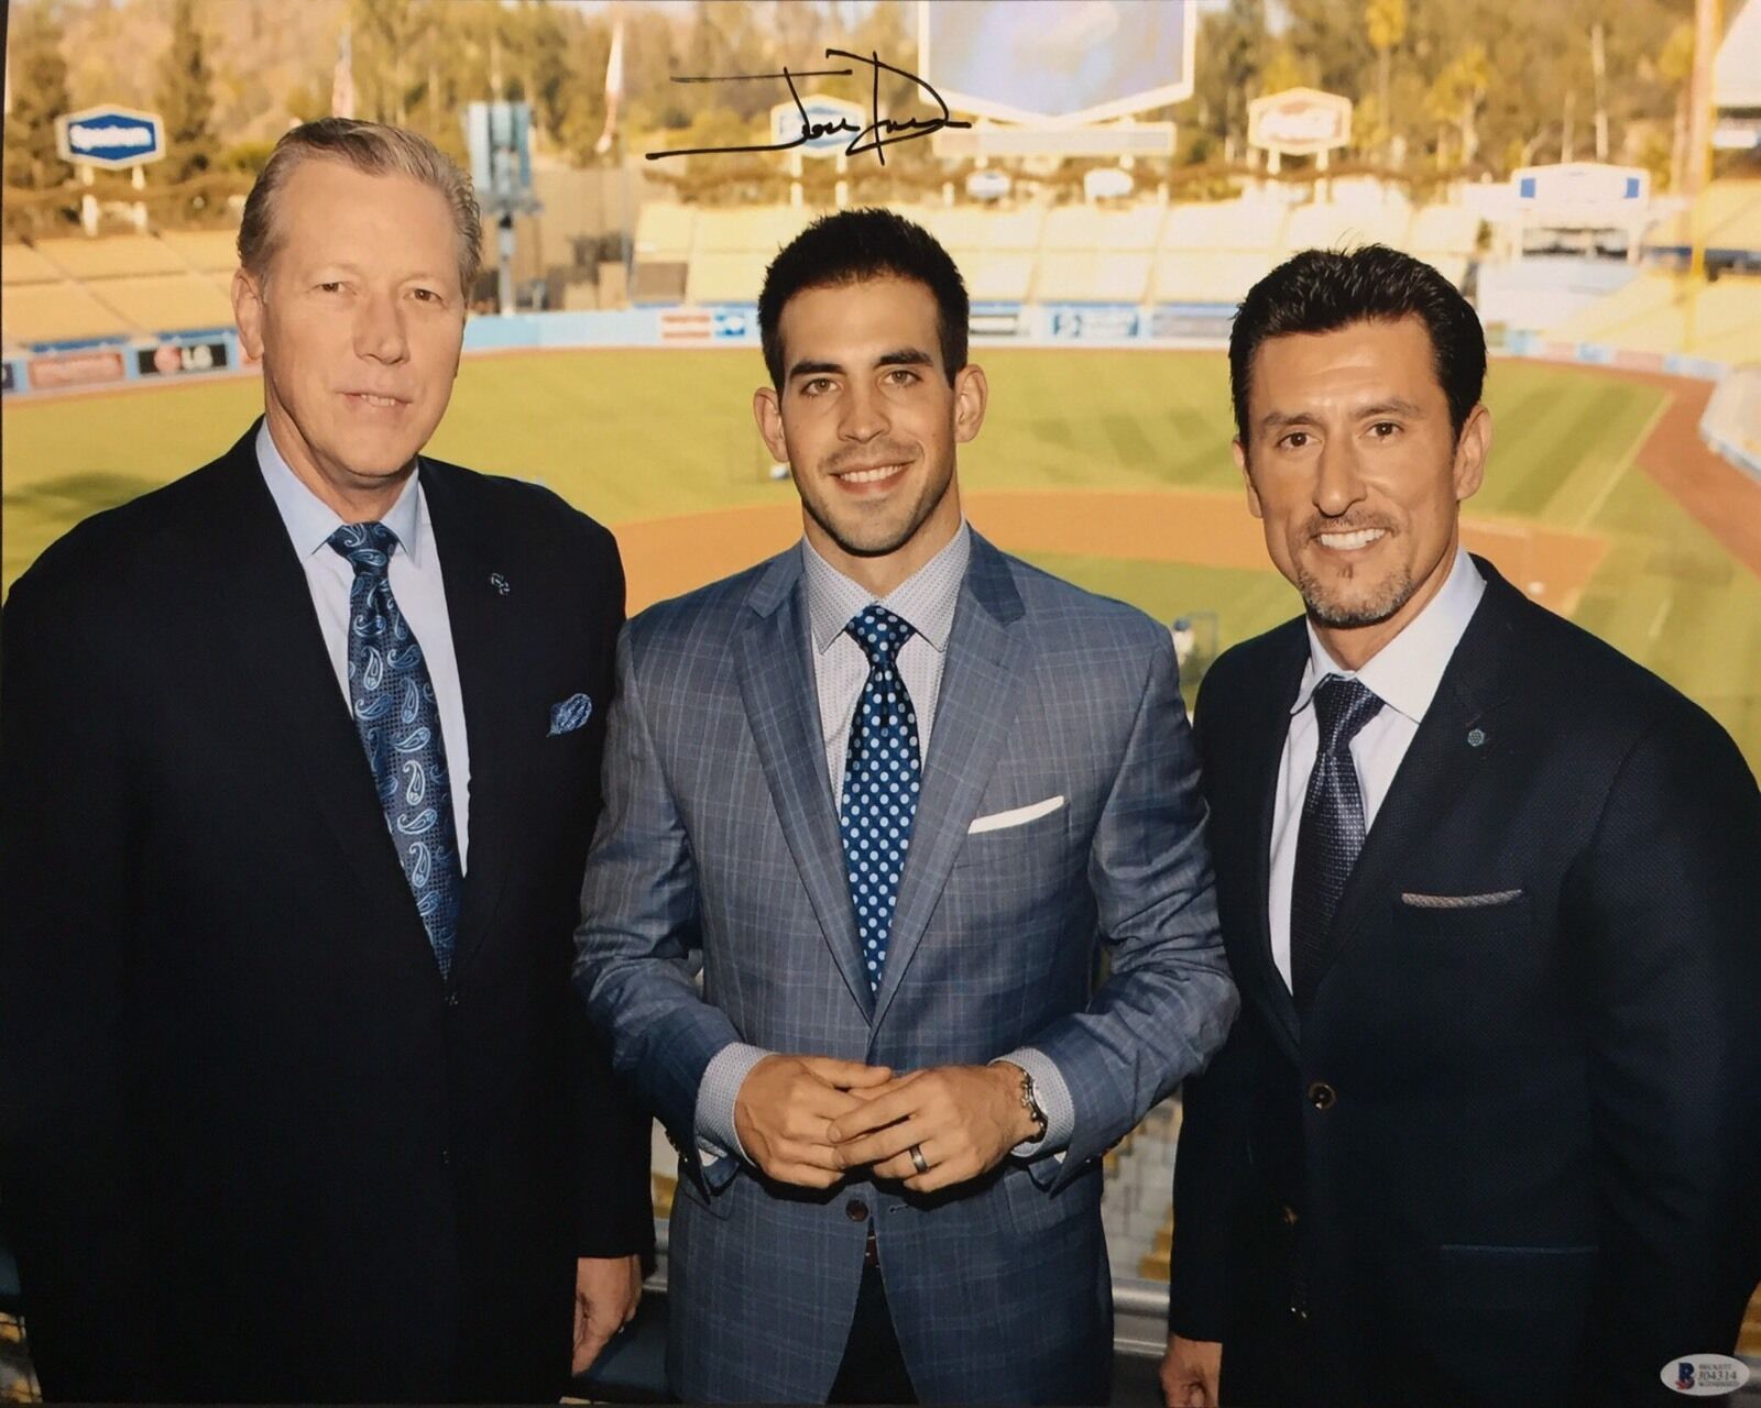
[[[1247,290],[1229,329],[1229,394],[1234,429],[1249,445],[1247,389],[1266,338],[1333,333],[1352,322],[1416,317],[1432,341],[1437,384],[1456,436],[1486,385],[1486,334],[1460,290],[1430,264],[1386,245],[1303,250]]]

